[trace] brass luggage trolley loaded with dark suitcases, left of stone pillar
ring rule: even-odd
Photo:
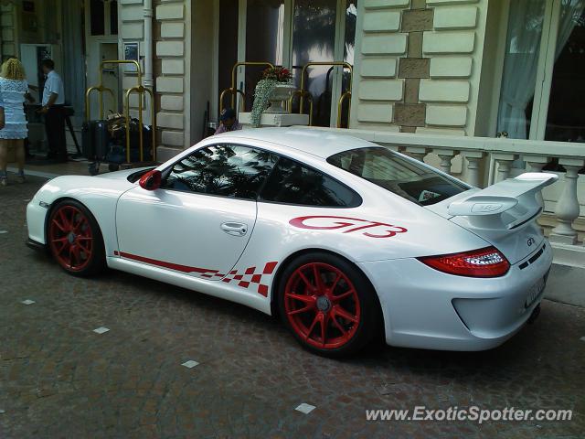
[[[116,102],[112,89],[104,87],[103,85],[103,67],[105,65],[114,64],[133,64],[136,69],[136,85],[128,89],[124,94],[123,101],[123,119],[125,124],[125,139],[123,145],[116,145],[112,136],[108,131],[108,121],[104,120],[103,112],[103,93],[108,92],[112,96],[112,101]],[[98,99],[100,105],[100,119],[91,121],[90,118],[90,97],[91,92],[98,92]],[[133,136],[131,130],[131,123],[133,120],[130,117],[130,95],[135,92],[138,94],[138,134]],[[148,93],[151,98],[151,121],[152,126],[146,133],[150,134],[150,142],[152,144],[152,151],[144,154],[144,124],[143,124],[143,105],[144,93]],[[142,70],[140,65],[135,60],[109,59],[103,60],[100,64],[100,84],[90,87],[85,92],[85,123],[83,127],[83,155],[85,155],[92,163],[88,166],[90,175],[97,175],[100,169],[100,163],[108,163],[109,170],[114,171],[122,168],[131,168],[139,166],[149,166],[156,162],[156,114],[154,112],[154,92],[150,89],[144,88],[142,85]],[[134,147],[135,142],[138,141],[138,147]]]

